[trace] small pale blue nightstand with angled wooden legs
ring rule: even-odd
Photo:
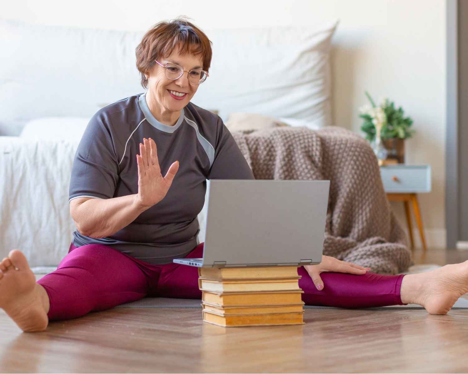
[[[425,251],[426,239],[417,194],[431,192],[431,166],[405,164],[380,166],[380,176],[388,200],[403,201],[404,203],[411,248],[414,248],[411,223],[411,206],[413,207],[421,243]]]

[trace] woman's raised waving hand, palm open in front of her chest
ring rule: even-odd
[[[143,139],[140,143],[140,154],[137,155],[138,164],[138,194],[137,204],[144,209],[157,204],[168,193],[172,181],[179,170],[179,161],[174,162],[166,176],[161,175],[156,143],[153,139]]]

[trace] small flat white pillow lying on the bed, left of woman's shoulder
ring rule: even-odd
[[[26,123],[20,137],[26,139],[80,141],[90,118],[44,117]]]

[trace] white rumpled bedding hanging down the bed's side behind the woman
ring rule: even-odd
[[[75,230],[68,188],[78,143],[0,137],[0,259],[17,248],[30,266],[57,266],[66,255]],[[204,211],[198,219],[203,228]]]

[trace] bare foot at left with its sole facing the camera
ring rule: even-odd
[[[49,297],[36,283],[26,257],[14,249],[0,262],[0,270],[0,308],[23,331],[44,331],[49,322]]]

